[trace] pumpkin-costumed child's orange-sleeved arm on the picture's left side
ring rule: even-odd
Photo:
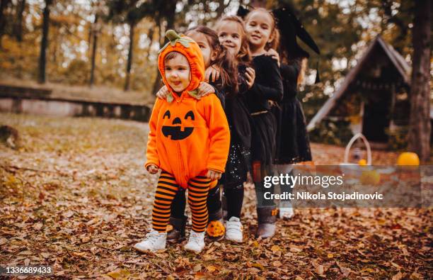
[[[156,150],[156,122],[158,121],[158,114],[161,108],[161,101],[156,99],[154,109],[151,113],[151,118],[149,120],[149,136],[147,138],[147,150],[146,150],[146,170],[149,172],[153,171],[154,168],[151,165],[159,167],[158,150]]]

